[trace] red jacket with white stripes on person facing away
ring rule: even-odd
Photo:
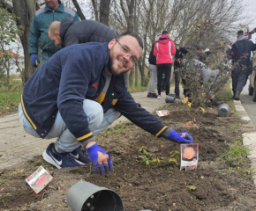
[[[159,40],[154,43],[154,56],[156,64],[172,63],[171,55],[176,54],[176,47],[173,40],[167,34],[162,34]]]

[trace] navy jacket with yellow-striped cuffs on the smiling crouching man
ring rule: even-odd
[[[48,135],[58,111],[78,141],[92,138],[83,109],[85,98],[99,102],[104,113],[113,106],[147,132],[162,135],[168,127],[134,101],[124,75],[112,76],[109,90],[102,93],[108,62],[108,43],[91,42],[63,48],[36,70],[26,82],[21,104],[41,138]]]

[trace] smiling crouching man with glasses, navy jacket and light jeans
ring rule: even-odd
[[[123,33],[109,43],[64,47],[26,82],[19,120],[30,135],[57,137],[42,154],[49,164],[64,168],[87,163],[83,146],[96,173],[112,171],[111,157],[97,145],[94,135],[120,113],[156,137],[192,142],[191,135],[163,125],[127,91],[124,73],[138,61],[142,48],[142,40],[134,33]]]

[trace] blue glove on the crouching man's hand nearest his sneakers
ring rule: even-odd
[[[103,171],[105,169],[106,174],[108,174],[109,171],[113,171],[111,156],[109,155],[108,164],[98,164],[98,151],[109,155],[109,152],[106,152],[104,149],[100,148],[97,143],[94,143],[93,146],[87,148],[88,155],[91,159],[92,164],[94,165],[95,173],[100,173],[101,175],[103,175]]]

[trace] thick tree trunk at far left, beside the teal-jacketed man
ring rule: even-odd
[[[34,67],[30,64],[30,55],[28,53],[28,37],[29,30],[32,20],[34,18],[34,13],[36,11],[36,1],[35,0],[12,0],[13,11],[17,16],[17,25],[21,26],[23,33],[19,35],[22,47],[24,49],[25,58],[25,71],[22,74],[22,82],[26,84],[26,81],[35,72]]]

